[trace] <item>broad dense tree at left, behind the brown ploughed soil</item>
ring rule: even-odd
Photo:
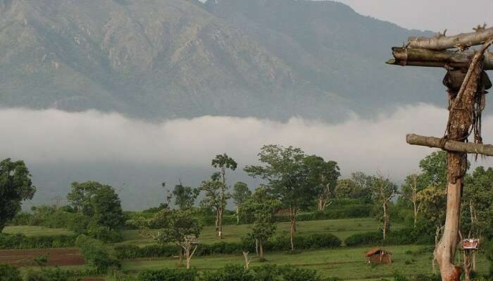
[[[114,230],[125,222],[118,194],[109,185],[94,181],[73,182],[67,199],[76,212],[91,218],[94,225]]]

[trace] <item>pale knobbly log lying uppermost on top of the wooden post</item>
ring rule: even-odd
[[[481,45],[491,38],[493,38],[493,27],[478,27],[476,32],[461,33],[454,36],[409,37],[408,44],[411,48],[446,50],[457,46]]]

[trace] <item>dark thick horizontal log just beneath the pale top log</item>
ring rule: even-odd
[[[468,68],[474,57],[474,52],[433,51],[428,49],[413,49],[392,47],[393,59],[387,61],[391,65],[412,65],[435,68]],[[493,53],[485,52],[484,70],[493,70]]]

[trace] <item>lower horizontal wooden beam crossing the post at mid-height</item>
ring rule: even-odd
[[[493,145],[491,144],[472,144],[469,142],[456,142],[451,139],[444,142],[444,140],[439,137],[424,137],[415,134],[406,135],[406,142],[408,144],[435,147],[446,151],[493,156]],[[444,144],[443,147],[442,144]]]

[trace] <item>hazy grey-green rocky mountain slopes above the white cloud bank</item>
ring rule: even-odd
[[[334,3],[0,0],[0,105],[340,120],[423,97],[382,65],[409,33]]]

